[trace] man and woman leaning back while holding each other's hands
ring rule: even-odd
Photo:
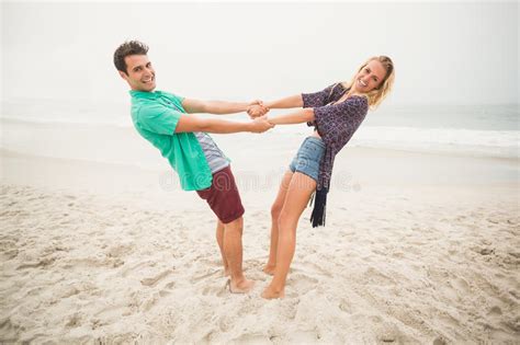
[[[184,191],[196,191],[217,217],[216,239],[229,290],[248,292],[253,281],[242,272],[244,206],[229,161],[207,133],[263,133],[275,125],[307,123],[313,134],[299,147],[283,175],[271,208],[271,246],[263,272],[273,276],[263,290],[265,299],[282,298],[296,246],[296,228],[313,194],[313,227],[325,225],[327,193],[336,154],[366,116],[388,94],[394,65],[386,56],[365,61],[349,82],[323,91],[302,93],[273,102],[199,101],[156,89],[156,71],[148,47],[137,41],[123,43],[114,65],[131,87],[132,119],[136,130],[168,159]],[[270,108],[299,108],[267,118]],[[245,112],[252,122],[237,123],[188,114]]]

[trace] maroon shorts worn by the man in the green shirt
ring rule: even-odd
[[[223,223],[231,222],[244,215],[242,202],[230,166],[214,173],[211,187],[196,193],[207,202]]]

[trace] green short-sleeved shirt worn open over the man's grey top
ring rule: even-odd
[[[137,131],[168,159],[179,174],[184,191],[205,189],[212,184],[212,172],[193,133],[176,133],[182,97],[155,91],[131,90],[132,120]]]

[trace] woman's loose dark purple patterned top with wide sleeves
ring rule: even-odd
[[[319,163],[317,189],[329,188],[336,154],[349,142],[369,112],[369,101],[363,96],[350,96],[335,104],[347,89],[332,84],[316,93],[303,93],[304,107],[314,107],[315,126],[325,143],[325,153]]]

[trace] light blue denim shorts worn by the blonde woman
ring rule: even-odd
[[[314,181],[318,181],[319,162],[324,157],[325,143],[324,140],[317,137],[307,137],[299,147],[296,157],[293,159],[289,169],[292,172],[301,172],[306,174]]]

